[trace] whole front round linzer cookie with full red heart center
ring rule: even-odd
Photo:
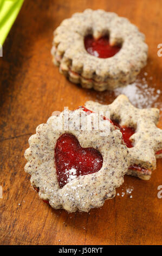
[[[99,117],[102,129],[87,130],[80,118],[92,120],[94,113],[79,108],[52,115],[37,127],[25,151],[25,171],[40,198],[68,212],[87,212],[113,198],[129,166],[121,132],[109,120]]]

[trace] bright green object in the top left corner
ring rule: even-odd
[[[7,38],[23,2],[24,0],[0,0],[0,45]]]

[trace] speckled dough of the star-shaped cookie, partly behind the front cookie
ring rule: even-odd
[[[162,149],[162,130],[156,124],[159,120],[157,108],[135,108],[125,95],[119,95],[112,104],[101,105],[94,101],[87,101],[85,107],[94,111],[109,111],[113,120],[118,120],[120,126],[133,127],[135,133],[130,137],[133,148],[128,148],[131,158],[130,166],[139,164],[147,170],[129,169],[127,174],[148,180],[151,171],[156,168],[156,154]]]

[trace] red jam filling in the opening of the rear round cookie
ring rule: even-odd
[[[99,39],[94,39],[93,35],[87,35],[85,36],[85,48],[87,52],[93,56],[98,58],[110,58],[120,51],[121,46],[111,46],[107,35]]]

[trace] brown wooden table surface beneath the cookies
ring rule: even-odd
[[[120,196],[101,209],[68,214],[38,198],[24,172],[24,151],[38,124],[53,111],[75,109],[86,100],[111,103],[110,92],[82,89],[66,80],[51,62],[53,30],[76,11],[86,8],[114,11],[127,17],[146,35],[148,64],[141,71],[161,86],[161,0],[36,0],[25,1],[3,46],[1,70],[0,243],[1,245],[157,245],[162,242],[161,160],[149,181],[125,176]],[[160,102],[160,97],[158,99]],[[162,128],[162,121],[159,123]],[[126,194],[133,188],[132,198]],[[121,193],[125,193],[121,196]]]

